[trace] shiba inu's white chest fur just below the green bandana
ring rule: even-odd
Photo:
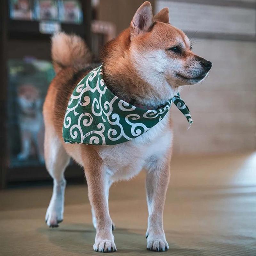
[[[137,175],[154,156],[161,158],[172,145],[171,129],[166,129],[168,118],[138,138],[115,146],[106,146],[99,154],[113,181],[127,180]]]

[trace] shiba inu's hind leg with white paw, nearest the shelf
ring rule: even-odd
[[[63,220],[64,193],[66,180],[64,171],[70,157],[62,146],[53,127],[46,125],[44,137],[44,157],[47,171],[53,179],[52,198],[45,215],[45,222],[49,227],[58,227]]]

